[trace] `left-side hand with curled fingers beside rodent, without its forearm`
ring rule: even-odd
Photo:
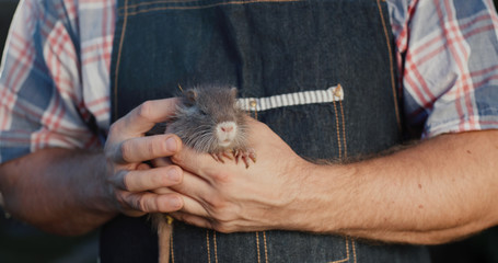
[[[179,184],[182,169],[177,165],[150,168],[146,161],[170,157],[181,150],[175,135],[144,136],[157,123],[166,121],[174,111],[175,99],[148,101],[111,126],[104,147],[107,182],[112,199],[120,213],[141,216],[182,208],[177,194],[152,191]]]

